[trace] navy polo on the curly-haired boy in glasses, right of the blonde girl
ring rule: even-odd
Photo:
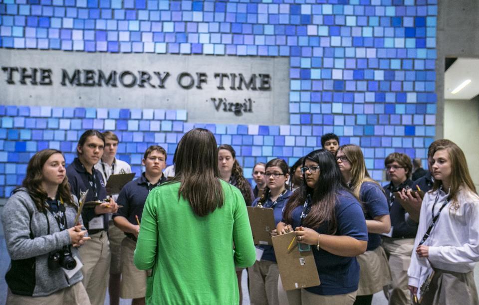
[[[389,183],[384,187],[386,198],[389,204],[389,215],[391,216],[391,226],[393,227],[393,238],[415,238],[418,231],[418,224],[406,221],[406,210],[398,202],[395,192],[401,191],[403,188],[413,188],[413,181],[406,179],[403,183],[395,187],[393,183]]]

